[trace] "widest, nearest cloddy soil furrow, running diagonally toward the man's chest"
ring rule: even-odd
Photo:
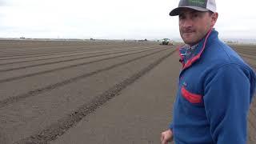
[[[86,117],[87,114],[92,113],[99,106],[102,106],[102,104],[117,96],[121,90],[126,88],[126,86],[129,86],[135,82],[138,78],[152,70],[154,66],[157,66],[173,53],[174,50],[162,58],[159,58],[157,61],[151,63],[149,66],[146,66],[146,68],[140,70],[137,74],[132,75],[130,78],[126,78],[124,81],[110,88],[110,90],[106,90],[97,98],[94,98],[94,100],[92,100],[90,103],[84,104],[78,108],[78,110],[74,110],[74,112],[69,114],[66,118],[58,120],[58,122],[51,124],[49,127],[47,127],[45,130],[42,130],[38,134],[31,135],[30,137],[24,138],[21,141],[15,143],[47,143],[56,139],[58,136],[65,134],[66,130],[70,129],[72,126],[75,126],[75,124],[81,121],[82,118]]]

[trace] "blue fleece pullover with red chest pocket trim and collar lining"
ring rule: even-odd
[[[246,144],[246,118],[255,72],[210,30],[190,58],[179,48],[182,71],[170,129],[175,144]]]

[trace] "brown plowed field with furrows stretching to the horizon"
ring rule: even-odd
[[[234,46],[256,69],[256,46]],[[0,143],[160,143],[180,70],[157,42],[0,41]],[[256,100],[248,142],[256,142]]]

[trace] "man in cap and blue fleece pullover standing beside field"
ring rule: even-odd
[[[245,144],[246,117],[255,90],[255,73],[218,39],[214,0],[180,0],[178,15],[186,46],[179,48],[182,70],[174,118],[162,144]]]

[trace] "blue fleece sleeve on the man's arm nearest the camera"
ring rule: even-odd
[[[204,82],[204,103],[210,133],[217,144],[246,144],[250,79],[241,66],[222,66]]]

